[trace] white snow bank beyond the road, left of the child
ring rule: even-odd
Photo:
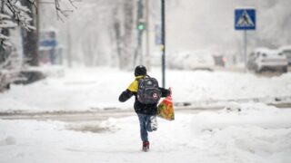
[[[66,70],[64,78],[57,76],[30,85],[13,85],[10,91],[0,94],[0,110],[42,112],[129,108],[132,103],[120,103],[118,96],[132,80],[129,73],[113,69]]]

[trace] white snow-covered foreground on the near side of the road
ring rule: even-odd
[[[108,129],[100,133],[60,121],[0,120],[0,162],[289,163],[290,116],[291,110],[255,103],[177,113],[174,121],[158,119],[146,153],[136,116],[81,124]]]

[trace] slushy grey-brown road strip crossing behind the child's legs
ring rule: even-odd
[[[291,103],[269,104],[281,109],[291,109]],[[203,111],[223,110],[226,106],[213,107],[176,107],[177,113],[196,114]],[[134,110],[96,110],[96,111],[55,111],[55,112],[26,112],[26,113],[0,113],[0,119],[3,120],[61,120],[68,122],[78,121],[100,121],[109,118],[124,118],[134,116]]]

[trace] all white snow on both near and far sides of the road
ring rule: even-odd
[[[133,72],[112,68],[48,71],[47,79],[12,85],[0,94],[1,112],[132,110],[120,103]],[[160,82],[160,69],[149,72]],[[174,101],[210,101],[290,96],[291,74],[262,77],[236,72],[166,72]],[[291,110],[263,103],[227,102],[224,110],[195,114],[176,110],[176,120],[158,119],[149,134],[150,151],[141,151],[138,119],[103,121],[0,120],[0,162],[291,162]],[[95,132],[92,132],[95,131]]]

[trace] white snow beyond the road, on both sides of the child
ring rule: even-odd
[[[47,69],[47,68],[46,68]],[[53,68],[52,68],[53,69]],[[125,103],[118,96],[135,80],[132,71],[113,68],[62,68],[56,75],[29,85],[12,85],[0,93],[0,111],[71,111],[131,109],[134,98]],[[53,73],[53,72],[50,72]],[[149,75],[161,84],[161,70]],[[175,102],[236,100],[291,96],[291,73],[275,77],[240,72],[166,71],[166,88],[172,87]]]

